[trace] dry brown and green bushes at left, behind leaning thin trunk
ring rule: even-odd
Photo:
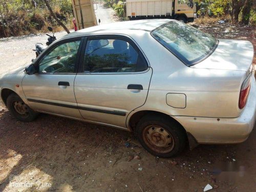
[[[49,0],[49,3],[62,22],[68,27],[73,26],[70,0]],[[47,31],[47,26],[52,26],[55,30],[58,28],[44,1],[0,0],[0,37]]]

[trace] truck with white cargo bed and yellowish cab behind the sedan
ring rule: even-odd
[[[126,0],[126,15],[130,20],[173,18],[193,22],[197,17],[193,0]]]

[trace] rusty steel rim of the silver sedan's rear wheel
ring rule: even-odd
[[[174,149],[174,138],[166,129],[150,125],[143,130],[143,140],[151,150],[157,153],[168,153]]]

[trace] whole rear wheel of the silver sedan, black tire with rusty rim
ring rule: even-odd
[[[178,155],[187,143],[183,127],[162,115],[142,117],[136,126],[135,135],[146,151],[163,158]]]

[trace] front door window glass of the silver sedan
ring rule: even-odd
[[[39,73],[74,73],[80,40],[66,42],[50,50],[39,61]]]

